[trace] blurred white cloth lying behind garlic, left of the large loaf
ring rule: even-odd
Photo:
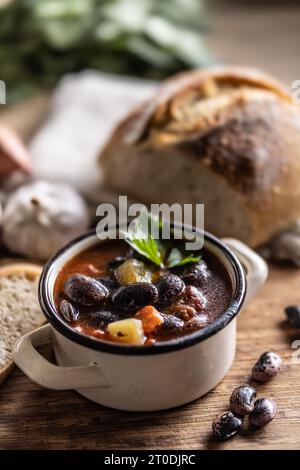
[[[100,203],[101,147],[115,124],[156,86],[90,70],[64,77],[48,119],[30,144],[34,176],[70,183],[91,202]]]

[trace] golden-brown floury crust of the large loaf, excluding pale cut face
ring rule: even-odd
[[[211,168],[243,198],[252,226],[245,241],[257,246],[300,217],[299,131],[300,111],[283,85],[218,67],[167,81],[115,129],[101,165],[105,175],[110,155],[125,147],[196,157],[197,171]]]

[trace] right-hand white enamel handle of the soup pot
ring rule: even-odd
[[[248,302],[266,281],[269,272],[268,265],[261,256],[240,240],[222,238],[222,241],[233,251],[245,268],[247,277],[246,302]]]

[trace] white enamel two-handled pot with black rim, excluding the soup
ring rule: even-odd
[[[95,232],[88,233],[45,266],[39,298],[49,323],[16,343],[16,364],[43,387],[74,389],[96,403],[120,410],[164,410],[212,390],[233,362],[236,317],[266,280],[266,263],[243,243],[220,241],[205,232],[205,249],[219,258],[232,283],[228,309],[214,323],[189,335],[153,346],[129,346],[80,334],[64,322],[54,306],[58,272],[73,256],[97,243],[102,242]],[[37,351],[45,343],[53,344],[58,365]]]

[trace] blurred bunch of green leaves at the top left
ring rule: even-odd
[[[212,62],[203,0],[10,0],[0,4],[8,102],[85,68],[161,79]]]

